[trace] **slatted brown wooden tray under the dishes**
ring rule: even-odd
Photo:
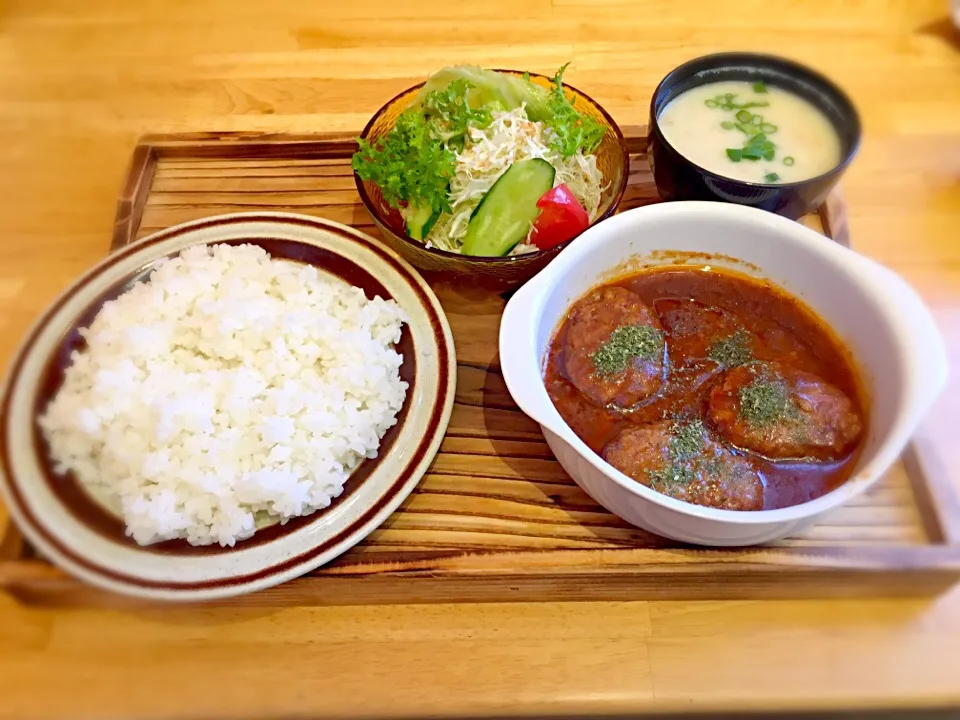
[[[644,128],[625,128],[621,209],[658,201]],[[144,138],[120,199],[113,248],[220,213],[318,215],[376,236],[344,136],[200,134]],[[847,242],[834,195],[803,222]],[[913,595],[960,577],[960,499],[911,449],[867,495],[800,537],[702,550],[634,528],[599,507],[553,459],[497,365],[505,299],[434,281],[456,340],[456,405],[440,454],[379,530],[335,563],[232,602],[273,605],[641,598]],[[7,526],[0,586],[29,601],[130,602],[46,563]]]

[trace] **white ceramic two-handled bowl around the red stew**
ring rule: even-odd
[[[631,480],[563,421],[542,379],[554,330],[577,298],[631,263],[676,262],[662,251],[709,253],[711,265],[767,278],[839,333],[870,398],[866,446],[846,483],[778,510],[700,507]],[[641,528],[712,546],[793,535],[862,493],[896,460],[947,377],[943,339],[917,293],[898,275],[792,220],[710,202],[637,208],[587,230],[508,303],[500,325],[500,362],[517,404],[540,423],[557,460],[591,497]]]

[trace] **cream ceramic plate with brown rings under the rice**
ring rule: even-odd
[[[250,243],[346,280],[368,299],[407,313],[396,350],[409,387],[378,456],[343,494],[311,515],[259,529],[233,547],[186,540],[138,545],[122,518],[72,474],[58,474],[38,418],[63,382],[79,330],[107,300],[147,277],[162,258],[195,245]],[[456,355],[436,296],[404,260],[351,228],[284,213],[243,213],[156,233],[109,256],[63,293],[13,359],[0,406],[0,489],[24,536],[48,559],[110,590],[161,600],[239,595],[279,584],[337,557],[382,523],[432,461],[453,406]]]

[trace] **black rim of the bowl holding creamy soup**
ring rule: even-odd
[[[669,140],[667,140],[666,135],[664,135],[663,130],[660,129],[660,116],[656,112],[657,100],[658,98],[665,93],[670,86],[672,85],[672,78],[677,73],[688,69],[691,65],[698,63],[713,61],[714,67],[717,69],[733,65],[736,63],[740,64],[749,64],[752,62],[773,62],[781,66],[789,74],[793,74],[797,77],[804,77],[805,79],[819,84],[829,90],[831,93],[839,97],[850,109],[850,116],[853,119],[851,123],[854,130],[854,141],[850,146],[850,150],[844,154],[840,162],[831,167],[829,170],[820,173],[819,175],[814,175],[813,177],[805,178],[803,180],[794,180],[793,182],[788,183],[760,183],[753,182],[750,180],[738,180],[737,178],[732,178],[727,175],[721,175],[713,170],[708,170],[695,163],[690,159],[685,153],[680,152],[676,146],[674,146]],[[764,68],[760,65],[757,66],[758,69],[763,70]],[[706,84],[706,83],[705,83]],[[789,91],[788,91],[789,92]],[[681,93],[682,94],[682,93]],[[829,118],[828,118],[829,119]],[[833,121],[830,122],[830,125],[837,130],[836,123]],[[679,157],[683,158],[684,162],[689,163],[691,167],[695,168],[697,172],[702,175],[708,176],[711,180],[718,180],[725,183],[730,183],[734,185],[739,185],[744,188],[749,188],[751,190],[791,190],[804,185],[810,185],[819,183],[822,181],[829,180],[835,175],[842,174],[847,167],[853,162],[853,159],[857,156],[857,153],[860,151],[860,145],[863,141],[863,122],[860,119],[860,113],[857,111],[857,106],[854,105],[853,100],[850,96],[837,85],[833,80],[828,78],[823,73],[818,70],[814,70],[809,65],[804,65],[790,58],[784,57],[782,55],[773,55],[771,53],[759,53],[759,52],[719,52],[719,53],[709,53],[707,55],[700,55],[699,57],[691,58],[686,62],[677,65],[670,72],[663,76],[657,87],[654,89],[653,94],[650,96],[650,131],[651,134],[656,132],[657,139],[663,143],[663,145],[675,152]]]

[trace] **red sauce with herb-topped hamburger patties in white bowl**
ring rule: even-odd
[[[575,303],[547,391],[634,480],[729,510],[796,505],[849,477],[865,407],[849,353],[800,301],[738,273],[682,265]]]

